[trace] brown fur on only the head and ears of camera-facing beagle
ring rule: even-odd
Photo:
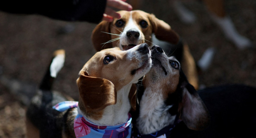
[[[121,19],[125,22],[128,22],[130,17],[130,12],[127,11],[119,11],[121,14]],[[162,20],[157,19],[153,14],[149,14],[140,10],[132,11],[132,17],[134,22],[136,22],[137,27],[141,29],[141,32],[145,36],[145,39],[151,41],[152,33],[155,33],[156,37],[160,40],[168,41],[173,44],[177,44],[179,41],[179,36],[176,32],[174,32],[171,27]],[[93,46],[96,51],[100,51],[101,49],[111,48],[111,47],[119,47],[118,41],[113,41],[112,43],[102,44],[111,39],[117,38],[117,35],[105,34],[102,32],[107,32],[111,34],[120,34],[122,32],[122,28],[117,28],[115,26],[115,22],[119,19],[114,19],[113,22],[109,23],[106,21],[100,22],[92,32],[91,39],[93,42]],[[147,28],[141,28],[138,24],[141,20],[145,20],[148,23]],[[151,42],[142,40],[140,43],[148,43],[151,45]]]

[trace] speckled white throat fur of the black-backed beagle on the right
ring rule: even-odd
[[[155,133],[175,123],[176,115],[168,112],[173,105],[166,105],[163,94],[158,92],[161,92],[161,88],[147,87],[144,91],[137,119],[137,127],[141,134]]]

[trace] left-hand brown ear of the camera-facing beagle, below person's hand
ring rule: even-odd
[[[107,34],[107,33],[110,33],[110,25],[111,23],[107,21],[102,21],[92,31],[91,40],[96,51],[100,51],[106,48],[112,48],[111,42],[103,44],[111,40],[110,34]],[[103,32],[106,32],[106,33],[103,33]]]

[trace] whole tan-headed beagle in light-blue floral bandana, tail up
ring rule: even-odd
[[[60,69],[60,65],[54,65],[56,57],[51,66]],[[51,90],[49,86],[56,76],[51,74],[58,71],[48,71],[27,110],[28,138],[130,137],[128,112],[136,100],[130,89],[151,64],[146,43],[126,51],[116,47],[95,53],[79,72],[78,102]]]

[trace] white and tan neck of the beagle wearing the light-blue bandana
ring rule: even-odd
[[[78,111],[80,110],[78,113],[83,115],[90,122],[93,122],[97,125],[113,126],[125,123],[128,119],[128,112],[131,108],[130,101],[128,99],[131,86],[132,84],[128,84],[117,91],[118,100],[116,101],[116,104],[109,105],[105,107],[103,110],[96,111],[93,113],[87,113],[82,111],[83,109],[78,109]]]

